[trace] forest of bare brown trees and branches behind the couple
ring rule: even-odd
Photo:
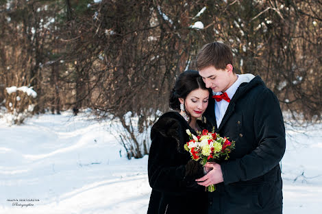
[[[286,123],[317,123],[321,11],[319,0],[0,0],[0,105],[12,124],[90,109],[118,121],[128,158],[141,158],[175,78],[219,40],[236,73],[260,75],[277,95]]]

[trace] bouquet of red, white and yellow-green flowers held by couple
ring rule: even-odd
[[[235,142],[228,141],[227,137],[221,137],[214,132],[203,130],[197,132],[197,136],[191,134],[190,130],[186,130],[190,141],[184,145],[184,149],[191,154],[193,160],[199,161],[201,165],[206,165],[207,162],[229,158],[229,153],[234,149]],[[215,191],[214,185],[208,186],[208,191]]]

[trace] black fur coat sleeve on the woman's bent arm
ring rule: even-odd
[[[175,163],[177,142],[171,137],[162,136],[159,132],[151,136],[152,143],[149,152],[148,176],[152,189],[168,193],[183,193],[189,191],[202,191],[203,187],[197,185],[195,178],[186,179],[186,165]],[[200,165],[201,171],[203,170]],[[191,178],[191,177],[190,177]]]

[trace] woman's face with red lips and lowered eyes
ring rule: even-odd
[[[208,106],[209,91],[205,89],[195,89],[191,91],[186,99],[179,98],[180,103],[184,102],[184,107],[191,117],[201,117]]]

